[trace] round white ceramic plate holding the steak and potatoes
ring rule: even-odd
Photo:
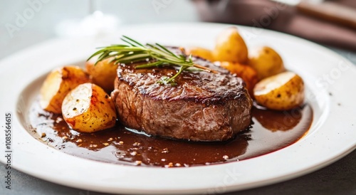
[[[171,23],[122,28],[115,36],[55,39],[33,46],[0,63],[1,127],[12,112],[12,166],[57,184],[110,193],[220,193],[276,183],[313,172],[345,156],[356,145],[356,68],[345,58],[300,38],[239,27],[248,46],[278,51],[286,67],[307,85],[313,125],[295,144],[241,162],[164,169],[95,162],[64,154],[34,139],[26,128],[28,105],[38,94],[43,75],[54,67],[83,61],[97,46],[117,43],[121,34],[143,43],[212,48],[229,25]],[[1,131],[1,137],[4,132]],[[1,148],[4,148],[1,138]],[[4,163],[4,149],[1,149]]]

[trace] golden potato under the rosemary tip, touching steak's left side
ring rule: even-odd
[[[93,83],[99,85],[107,93],[114,90],[114,80],[117,77],[117,65],[110,63],[112,58],[99,61],[96,65],[95,61],[89,60],[85,64],[87,72],[92,76]]]

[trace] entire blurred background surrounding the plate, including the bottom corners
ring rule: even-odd
[[[0,60],[51,38],[100,36],[140,23],[208,21],[290,33],[356,64],[355,13],[355,0],[0,0]],[[244,194],[276,194],[283,189],[284,194],[298,189],[311,194],[356,194],[355,160],[354,151],[313,174]],[[14,194],[89,194],[21,172],[15,172],[14,178],[19,182]]]

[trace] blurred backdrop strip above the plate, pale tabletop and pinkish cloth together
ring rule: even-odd
[[[98,36],[122,26],[178,21],[268,28],[338,53],[356,52],[354,0],[0,0],[0,5],[0,59],[50,38]]]

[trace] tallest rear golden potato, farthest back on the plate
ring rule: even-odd
[[[219,33],[213,50],[213,58],[218,61],[247,63],[247,46],[237,28],[226,28]]]

